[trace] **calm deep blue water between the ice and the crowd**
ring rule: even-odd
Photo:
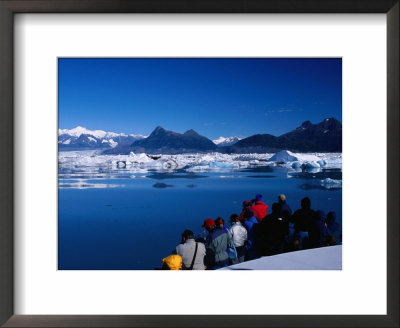
[[[161,266],[185,229],[202,232],[206,218],[225,222],[240,214],[242,201],[257,193],[271,207],[280,193],[292,210],[308,196],[312,208],[336,211],[342,220],[342,189],[319,181],[341,179],[340,170],[294,173],[277,167],[188,174],[149,172],[85,180],[59,179],[58,266],[60,270],[152,270]],[[108,186],[108,187],[107,187]],[[269,211],[270,212],[270,211]]]

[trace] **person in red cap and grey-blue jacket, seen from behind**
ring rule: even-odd
[[[212,219],[206,219],[202,227],[208,231],[204,260],[207,268],[215,270],[228,266],[229,256],[226,249],[231,241],[230,234],[216,226]]]

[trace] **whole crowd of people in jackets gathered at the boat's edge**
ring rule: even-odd
[[[230,223],[228,229],[221,217],[206,219],[202,226],[208,232],[205,239],[185,230],[173,254],[163,259],[162,269],[215,270],[261,256],[340,244],[342,237],[335,212],[325,215],[311,209],[308,197],[292,213],[281,194],[268,214],[268,205],[257,194],[243,202],[242,212],[232,214]]]

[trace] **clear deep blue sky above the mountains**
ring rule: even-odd
[[[342,60],[60,58],[59,128],[281,135],[342,120]]]

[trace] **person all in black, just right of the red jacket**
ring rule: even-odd
[[[283,252],[285,237],[289,234],[289,221],[281,215],[281,204],[272,204],[272,213],[261,221],[264,235],[264,255],[276,255]]]

